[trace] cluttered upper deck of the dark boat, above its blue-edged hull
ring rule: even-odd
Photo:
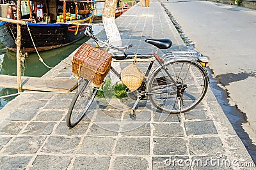
[[[29,4],[31,9],[29,10]],[[17,18],[17,1],[0,4],[1,16]],[[31,22],[68,22],[86,18],[93,12],[92,1],[33,0],[21,1],[21,19]]]

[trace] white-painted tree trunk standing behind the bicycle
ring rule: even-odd
[[[115,8],[117,0],[106,0],[102,11],[102,22],[109,43],[116,46],[122,46],[122,40],[118,28],[115,23]],[[113,50],[109,51],[113,52]],[[119,62],[112,62],[111,66],[120,72],[121,67]],[[114,74],[110,74],[111,82],[116,83],[118,78]]]

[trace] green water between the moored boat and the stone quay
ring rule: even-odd
[[[101,31],[102,29],[102,27],[93,25],[93,34],[97,34],[97,32]],[[78,48],[87,40],[88,37],[85,37],[79,41],[76,41],[75,43],[72,43],[71,45],[56,48],[54,50],[48,50],[45,52],[39,52],[39,54],[44,60],[45,64],[50,67],[54,67],[59,64],[61,60],[68,57],[70,53],[74,52],[76,48]],[[22,76],[40,77],[47,73],[49,70],[49,68],[45,67],[44,64],[40,62],[37,53],[29,53],[28,57],[25,59],[24,64],[22,64]],[[17,75],[16,53],[10,50],[6,50],[2,43],[0,43],[0,74],[12,76]],[[15,93],[17,93],[17,89],[0,88],[0,97]],[[0,110],[5,104],[14,98],[15,96],[2,99],[0,98]]]

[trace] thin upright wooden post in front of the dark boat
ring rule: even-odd
[[[17,20],[20,20],[20,4],[21,0],[18,0],[17,4]],[[21,86],[21,69],[20,69],[20,41],[21,39],[21,25],[17,24],[17,39],[16,39],[16,45],[17,45],[17,83],[18,83],[18,92],[22,92],[22,86]]]

